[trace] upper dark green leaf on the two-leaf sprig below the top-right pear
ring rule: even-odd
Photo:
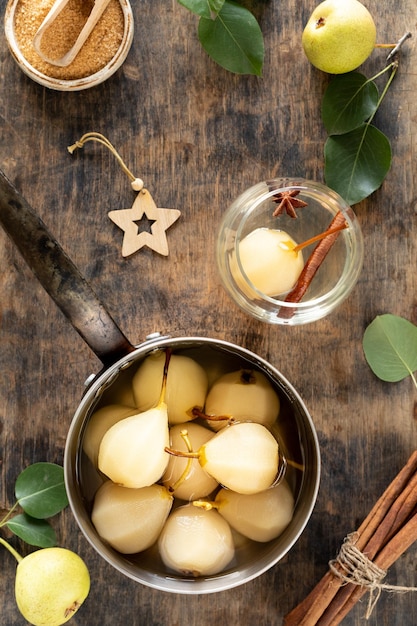
[[[378,89],[358,72],[329,83],[322,100],[322,120],[329,135],[341,135],[366,122],[378,107]]]

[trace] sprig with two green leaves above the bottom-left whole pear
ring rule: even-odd
[[[16,502],[0,520],[0,528],[6,526],[31,546],[55,546],[55,530],[47,519],[68,505],[63,468],[54,463],[29,465],[17,477],[14,491]],[[10,549],[1,537],[0,543]]]

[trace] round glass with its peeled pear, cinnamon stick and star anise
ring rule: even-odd
[[[220,277],[234,302],[270,323],[319,320],[349,295],[363,263],[352,208],[325,185],[300,178],[264,181],[223,216]]]

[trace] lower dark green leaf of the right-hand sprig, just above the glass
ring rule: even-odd
[[[355,204],[381,186],[391,167],[391,145],[375,126],[362,124],[328,137],[324,162],[326,184],[348,204]]]

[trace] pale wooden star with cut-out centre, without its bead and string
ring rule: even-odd
[[[140,189],[130,209],[118,209],[108,213],[109,218],[124,231],[122,255],[130,256],[143,246],[148,246],[158,254],[169,253],[166,231],[180,217],[178,209],[158,208],[147,189]],[[140,221],[146,217],[151,232],[140,231]]]

